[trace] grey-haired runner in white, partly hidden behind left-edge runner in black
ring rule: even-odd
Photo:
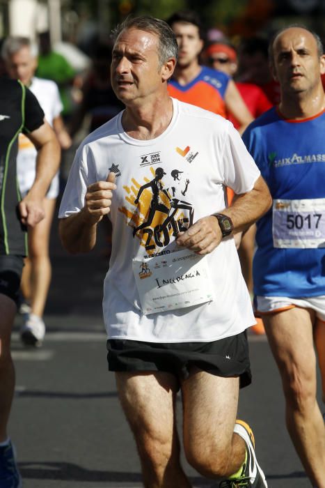
[[[1,52],[10,77],[20,79],[25,86],[29,86],[44,110],[45,119],[54,128],[61,148],[68,149],[71,139],[61,117],[63,105],[58,87],[49,79],[34,77],[37,68],[37,47],[29,38],[10,36],[4,41]],[[23,197],[33,185],[36,158],[35,146],[26,135],[20,134],[17,178]],[[24,314],[24,323],[20,331],[22,342],[27,345],[40,346],[45,337],[45,323],[42,316],[51,282],[49,235],[58,191],[59,178],[56,173],[43,201],[45,218],[40,224],[31,227],[28,233],[29,257],[25,260],[21,286],[27,302],[24,304],[25,310],[27,308],[29,312]]]

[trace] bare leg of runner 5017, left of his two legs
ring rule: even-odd
[[[271,350],[283,381],[286,422],[310,482],[325,487],[325,429],[316,399],[315,314],[292,308],[264,315]]]

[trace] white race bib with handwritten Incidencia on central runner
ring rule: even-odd
[[[134,259],[133,272],[145,315],[214,299],[206,258],[189,250]]]

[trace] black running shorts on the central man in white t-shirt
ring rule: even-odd
[[[164,371],[187,378],[191,366],[210,374],[239,376],[240,388],[251,383],[246,331],[213,342],[107,341],[109,371]]]

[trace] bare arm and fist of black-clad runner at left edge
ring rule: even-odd
[[[42,199],[46,195],[52,178],[58,171],[61,150],[54,130],[46,121],[27,137],[31,139],[38,150],[36,176],[31,190],[19,203],[19,212],[22,223],[33,227],[44,218]]]

